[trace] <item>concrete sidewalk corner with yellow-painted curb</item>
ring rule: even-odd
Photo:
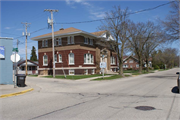
[[[28,85],[25,87],[16,87],[16,88],[14,88],[14,85],[0,85],[0,98],[16,96],[32,90],[33,88]]]

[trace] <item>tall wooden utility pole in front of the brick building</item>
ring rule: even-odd
[[[53,55],[53,77],[55,77],[55,62],[54,62],[54,27],[53,27],[53,12],[58,12],[59,10],[45,9],[51,13],[50,25],[52,26],[52,55]]]

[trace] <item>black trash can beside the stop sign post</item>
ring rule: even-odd
[[[25,80],[26,80],[26,75],[25,74],[16,74],[17,76],[17,86],[18,87],[25,87]]]

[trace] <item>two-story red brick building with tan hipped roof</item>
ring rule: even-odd
[[[54,32],[55,74],[95,74],[100,72],[100,62],[106,62],[106,73],[117,69],[117,57],[109,44],[113,39],[106,31],[88,33],[76,28],[60,29]],[[52,74],[52,33],[40,35],[38,41],[39,75]],[[101,50],[107,50],[102,58]]]

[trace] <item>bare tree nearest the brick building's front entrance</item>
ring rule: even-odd
[[[120,6],[114,7],[114,10],[105,13],[105,21],[102,21],[100,30],[110,32],[115,40],[110,40],[110,44],[117,53],[119,62],[119,74],[123,76],[123,53],[128,41],[128,8],[121,9]]]

